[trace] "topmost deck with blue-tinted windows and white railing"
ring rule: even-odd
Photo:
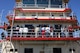
[[[68,8],[69,0],[16,0],[16,8]]]

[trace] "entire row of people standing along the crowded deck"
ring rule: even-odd
[[[8,29],[10,29],[10,26],[8,26]],[[68,29],[68,27],[57,27],[57,28],[54,28],[53,26],[49,26],[49,25],[41,25],[41,26],[35,26],[33,28],[30,29],[30,27],[22,27],[22,26],[19,26],[17,25],[15,27],[16,29],[16,33],[18,34],[25,34],[26,36],[27,35],[35,35],[35,37],[38,37],[38,36],[74,36],[74,37],[77,37],[77,35],[75,34],[78,34],[78,37],[80,36],[80,29],[79,30],[75,30],[75,31],[70,31]]]

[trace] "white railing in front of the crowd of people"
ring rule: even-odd
[[[7,30],[7,33],[8,35],[10,36],[10,29]],[[28,29],[27,31],[24,31],[23,30],[16,30],[16,29],[13,29],[13,34],[12,36],[15,36],[15,37],[57,37],[57,38],[60,38],[60,37],[80,37],[80,30],[78,31],[61,31],[61,29],[54,29],[53,31],[49,31],[49,32],[42,32],[41,30],[39,31],[35,31],[35,29]]]

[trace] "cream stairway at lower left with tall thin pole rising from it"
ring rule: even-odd
[[[11,41],[12,34],[13,34],[14,16],[15,16],[15,12],[13,12],[10,40],[3,40],[3,42],[2,42],[2,53],[15,53],[15,51],[13,50],[14,46],[13,46],[13,43]],[[11,52],[12,50],[13,50],[13,52]]]

